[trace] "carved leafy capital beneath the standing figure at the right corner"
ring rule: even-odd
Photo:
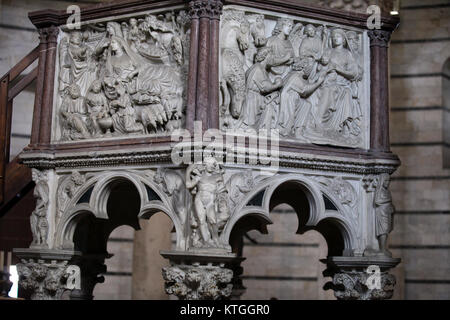
[[[386,300],[394,294],[395,277],[387,272],[343,271],[325,285],[338,300]]]

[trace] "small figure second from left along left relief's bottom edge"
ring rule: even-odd
[[[98,136],[103,133],[103,129],[110,132],[110,126],[107,125],[108,121],[105,118],[109,116],[109,105],[105,94],[102,91],[102,82],[100,80],[94,80],[91,88],[86,95],[86,106],[89,113],[89,120],[91,121],[92,134]],[[101,120],[105,119],[105,120]]]

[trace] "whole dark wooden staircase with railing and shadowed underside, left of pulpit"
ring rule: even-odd
[[[32,240],[29,218],[35,207],[31,169],[10,161],[13,100],[36,78],[38,67],[20,76],[39,58],[39,46],[0,78],[0,250],[28,247]],[[14,261],[13,261],[14,264]]]

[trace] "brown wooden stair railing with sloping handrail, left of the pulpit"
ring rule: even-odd
[[[30,183],[31,171],[21,165],[18,157],[10,158],[13,100],[36,78],[38,67],[19,79],[22,72],[39,57],[39,46],[20,60],[8,73],[0,78],[0,209]]]

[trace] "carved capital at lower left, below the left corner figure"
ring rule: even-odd
[[[73,289],[74,277],[79,277],[77,266],[67,261],[22,259],[17,264],[19,286],[31,292],[32,300],[58,300],[63,292]],[[74,272],[75,271],[75,272]]]

